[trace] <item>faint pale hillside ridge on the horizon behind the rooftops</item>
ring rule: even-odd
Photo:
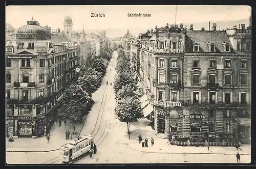
[[[249,19],[241,19],[241,20],[227,20],[227,21],[210,21],[210,26],[212,27],[212,23],[217,24],[217,30],[226,30],[226,29],[231,29],[233,25],[237,25],[239,27],[240,24],[245,24],[245,27],[249,26]],[[170,23],[173,24],[173,23]],[[169,24],[169,25],[170,25]],[[183,26],[187,26],[189,29],[191,23],[183,23]],[[194,30],[201,30],[202,27],[204,27],[205,30],[209,29],[209,22],[199,22],[199,23],[193,23],[194,25]],[[164,25],[158,25],[158,27],[161,27]],[[180,26],[180,25],[179,25]],[[132,33],[134,36],[138,36],[139,33],[144,33],[146,30],[151,29],[154,27],[146,27],[145,28],[129,28],[130,33]],[[210,28],[212,30],[212,28]],[[76,30],[77,32],[81,32],[82,30]],[[124,36],[127,32],[127,28],[121,28],[121,29],[99,29],[99,30],[84,30],[86,33],[91,33],[91,32],[99,32],[99,31],[106,31],[106,37],[109,38],[115,38],[115,37],[120,37]]]

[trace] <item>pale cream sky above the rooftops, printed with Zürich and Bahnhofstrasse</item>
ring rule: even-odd
[[[91,17],[91,13],[104,13],[105,17]],[[151,17],[127,17],[127,14],[150,14]],[[249,18],[249,6],[196,6],[177,5],[176,23],[197,23],[216,20],[239,20]],[[175,23],[175,5],[129,5],[129,6],[8,6],[6,22],[16,29],[37,20],[41,26],[49,25],[63,29],[65,16],[71,16],[73,31],[84,29],[149,29],[156,25]]]

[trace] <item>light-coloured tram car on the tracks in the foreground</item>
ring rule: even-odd
[[[61,161],[62,163],[72,163],[86,155],[92,147],[93,136],[91,134],[75,138],[61,146]]]

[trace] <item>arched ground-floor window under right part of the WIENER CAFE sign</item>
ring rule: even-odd
[[[202,127],[202,119],[200,118],[202,115],[201,111],[194,110],[190,113],[190,131],[191,132],[201,132]]]

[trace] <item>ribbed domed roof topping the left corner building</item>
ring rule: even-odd
[[[49,34],[51,35],[50,31],[45,29],[39,25],[39,23],[35,20],[27,21],[27,24],[18,27],[13,34]]]

